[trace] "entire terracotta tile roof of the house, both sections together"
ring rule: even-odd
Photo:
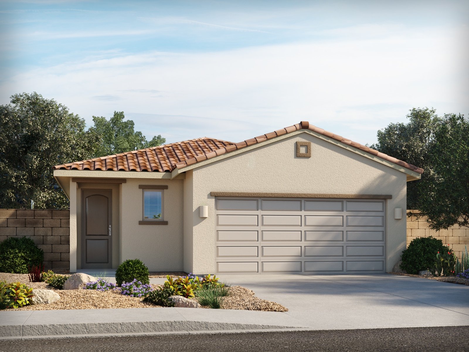
[[[53,169],[66,170],[111,170],[111,171],[172,171],[175,168],[184,168],[196,164],[199,161],[214,158],[218,155],[230,153],[246,146],[257,144],[268,139],[285,135],[297,130],[311,130],[323,136],[333,138],[340,143],[350,145],[366,153],[370,153],[386,161],[391,161],[403,168],[422,174],[424,170],[407,162],[398,160],[371,149],[366,145],[356,143],[350,139],[335,135],[329,131],[310,125],[307,121],[302,121],[293,126],[285,127],[281,130],[266,133],[251,139],[246,139],[239,143],[231,143],[214,138],[197,138],[184,142],[160,145],[157,147],[136,150],[116,155],[103,156],[96,159],[70,162],[64,165],[56,165]]]

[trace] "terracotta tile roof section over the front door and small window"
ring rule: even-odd
[[[102,171],[172,171],[176,164],[234,145],[215,138],[197,138],[183,142],[159,145],[132,152],[103,156],[100,158],[55,165],[55,170],[102,170]]]

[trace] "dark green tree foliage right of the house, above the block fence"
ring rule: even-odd
[[[378,131],[371,148],[424,169],[407,184],[407,207],[427,216],[434,230],[469,224],[469,121],[440,117],[434,109],[410,110],[409,122]]]

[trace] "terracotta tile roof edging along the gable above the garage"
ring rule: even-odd
[[[294,131],[297,131],[297,130],[302,130],[302,129],[311,130],[311,131],[319,133],[323,136],[333,138],[333,139],[335,139],[335,140],[337,140],[337,141],[339,141],[343,144],[351,145],[355,148],[363,150],[366,153],[370,153],[374,156],[378,156],[379,158],[384,159],[386,161],[391,161],[395,164],[398,164],[398,165],[402,166],[403,168],[408,168],[409,170],[415,171],[419,174],[422,174],[424,172],[423,168],[418,168],[418,167],[416,167],[412,164],[408,164],[407,162],[404,162],[404,161],[401,161],[399,159],[393,158],[392,156],[389,156],[387,154],[380,153],[377,150],[374,150],[374,149],[371,149],[370,147],[367,147],[366,145],[356,143],[354,141],[351,141],[350,139],[343,138],[343,137],[335,135],[335,134],[333,134],[329,131],[323,130],[322,128],[318,128],[316,126],[310,125],[310,123],[308,121],[302,121],[302,122],[297,123],[293,126],[285,127],[281,130],[276,130],[276,131],[273,131],[273,132],[270,132],[270,133],[266,133],[266,134],[263,134],[262,136],[258,136],[258,137],[255,137],[255,138],[246,139],[245,141],[225,146],[221,149],[212,151],[210,153],[199,155],[199,156],[197,156],[197,158],[186,159],[184,161],[180,161],[176,164],[176,168],[184,168],[186,166],[195,164],[199,161],[203,161],[203,160],[213,158],[217,155],[233,152],[234,150],[244,148],[248,145],[253,145],[253,144],[256,144],[256,143],[260,143],[260,142],[263,142],[267,139],[275,138],[275,137],[282,136],[284,134],[294,132]]]

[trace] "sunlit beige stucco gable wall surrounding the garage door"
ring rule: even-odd
[[[296,141],[312,142],[310,158],[296,157]],[[185,238],[191,237],[193,246],[184,248],[185,255],[191,251],[194,259],[192,267],[184,266],[186,271],[215,271],[215,198],[211,191],[390,194],[392,199],[386,200],[386,271],[406,247],[406,174],[306,132],[190,170],[185,182],[190,173],[193,196],[186,199],[192,207],[186,212],[192,211],[193,227],[186,226]],[[194,214],[200,205],[209,206],[208,218]],[[396,207],[403,209],[401,220],[394,220]]]

